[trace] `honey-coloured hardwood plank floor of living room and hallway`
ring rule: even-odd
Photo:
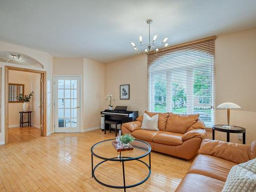
[[[98,184],[91,178],[91,146],[114,138],[100,130],[38,137],[37,129],[11,129],[10,143],[0,145],[1,191],[123,191]],[[127,191],[174,191],[190,166],[168,155],[152,152],[152,175]],[[148,157],[145,157],[148,162]],[[99,160],[94,158],[94,162]],[[126,162],[125,162],[126,163]],[[146,168],[134,161],[125,164],[127,184],[146,176]],[[121,163],[106,162],[95,175],[108,184],[122,183]]]

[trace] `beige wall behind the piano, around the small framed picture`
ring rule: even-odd
[[[119,99],[120,84],[130,84],[130,99]],[[139,111],[139,115],[147,109],[147,71],[146,55],[116,61],[106,65],[106,95],[114,96],[116,105],[128,106],[128,110]],[[109,103],[105,102],[105,108]]]

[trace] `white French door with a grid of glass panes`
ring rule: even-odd
[[[55,77],[55,132],[80,132],[80,77]]]

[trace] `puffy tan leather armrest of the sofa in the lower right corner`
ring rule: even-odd
[[[251,152],[250,145],[204,139],[199,148],[199,153],[239,164],[249,161]]]

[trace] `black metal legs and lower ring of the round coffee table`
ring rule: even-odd
[[[147,175],[147,177],[146,177],[144,180],[142,180],[142,181],[140,181],[140,182],[138,182],[138,183],[136,183],[136,184],[133,184],[133,185],[126,185],[126,184],[125,184],[124,161],[122,161],[121,159],[120,159],[120,161],[117,161],[117,162],[122,162],[123,186],[108,185],[108,184],[105,184],[105,183],[99,181],[99,180],[95,177],[95,174],[94,174],[94,173],[95,173],[95,170],[97,169],[97,167],[98,167],[100,164],[102,164],[102,163],[104,163],[104,162],[106,162],[106,161],[111,161],[111,159],[118,159],[117,157],[110,158],[110,160],[103,160],[103,161],[99,162],[99,163],[94,167],[94,166],[93,166],[93,154],[92,154],[92,177],[95,179],[95,181],[97,181],[99,184],[101,184],[101,185],[103,185],[103,186],[110,187],[110,188],[123,188],[124,191],[126,191],[126,188],[131,188],[131,187],[138,186],[138,185],[144,183],[145,181],[147,181],[148,178],[150,178],[150,176],[151,176],[151,153],[149,153],[148,156],[149,156],[149,161],[150,161],[150,162],[149,162],[149,165],[148,165],[146,162],[144,162],[144,161],[142,161],[142,160],[140,160],[140,159],[133,159],[133,160],[136,160],[136,161],[139,161],[139,162],[143,163],[143,164],[148,168],[148,175]],[[121,157],[121,156],[120,156],[120,157]],[[122,157],[122,158],[123,158],[123,159],[130,159],[131,157]]]

